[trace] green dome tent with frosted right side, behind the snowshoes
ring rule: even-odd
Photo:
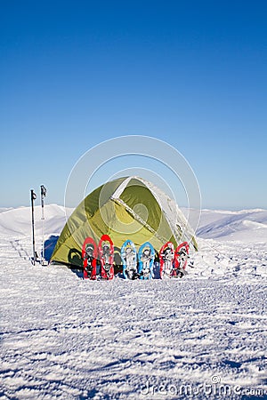
[[[156,251],[167,241],[197,243],[187,220],[174,200],[139,177],[111,180],[93,190],[70,215],[54,248],[52,261],[82,267],[85,237],[98,244],[102,235],[121,248],[131,239],[139,247],[150,242]]]

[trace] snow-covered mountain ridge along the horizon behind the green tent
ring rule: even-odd
[[[45,204],[44,235],[60,235],[73,209],[65,211],[64,206]],[[36,235],[42,232],[41,206],[35,207]],[[187,209],[182,209],[185,215]],[[190,210],[197,220],[199,212]],[[194,228],[194,227],[193,227]],[[18,236],[31,235],[31,208],[0,208],[0,234]],[[267,242],[267,210],[202,210],[197,228],[197,236],[204,239],[241,242]]]

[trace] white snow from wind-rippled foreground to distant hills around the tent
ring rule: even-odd
[[[64,209],[45,206],[44,237]],[[202,212],[180,280],[35,267],[30,209],[0,213],[3,399],[266,398],[267,211]],[[36,248],[41,245],[36,207]]]

